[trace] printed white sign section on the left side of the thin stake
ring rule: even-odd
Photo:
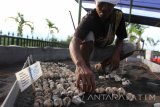
[[[29,73],[29,68],[25,68],[16,73],[16,78],[18,80],[18,84],[21,92],[24,91],[32,84],[31,76]]]

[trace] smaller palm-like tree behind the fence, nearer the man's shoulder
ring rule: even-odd
[[[59,32],[58,27],[55,26],[55,24],[53,22],[51,22],[49,19],[46,19],[47,21],[47,26],[49,28],[49,33],[48,33],[48,37],[49,35],[52,35],[52,39],[54,39],[54,31],[56,30],[57,33]]]

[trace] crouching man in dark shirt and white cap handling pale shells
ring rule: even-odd
[[[118,1],[96,0],[96,9],[83,17],[70,42],[70,55],[76,65],[76,86],[85,92],[95,89],[91,59],[100,61],[95,65],[97,70],[109,65],[112,71],[135,50],[133,44],[123,42],[127,33],[122,11],[114,8]]]

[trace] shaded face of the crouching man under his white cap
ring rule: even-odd
[[[114,4],[100,2],[100,3],[97,3],[97,5],[96,5],[96,11],[97,11],[99,17],[102,20],[105,20],[111,15],[111,13],[114,9],[114,6],[115,6]]]

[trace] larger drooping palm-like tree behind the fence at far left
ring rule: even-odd
[[[28,26],[31,29],[31,33],[33,34],[34,26],[31,21],[24,20],[24,15],[21,13],[17,13],[16,17],[9,17],[14,19],[17,23],[17,36],[23,37],[23,28],[24,26]]]

